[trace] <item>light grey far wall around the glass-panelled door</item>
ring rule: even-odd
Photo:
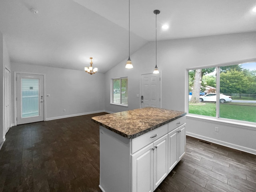
[[[30,64],[11,63],[12,117],[14,117],[14,72],[45,74],[46,120],[104,111],[104,74],[87,74]],[[63,110],[66,109],[66,112]],[[14,118],[12,118],[14,124]]]

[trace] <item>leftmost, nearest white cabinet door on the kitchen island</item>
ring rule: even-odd
[[[153,143],[132,154],[132,192],[153,192]]]

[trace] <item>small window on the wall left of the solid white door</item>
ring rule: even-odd
[[[128,78],[112,79],[112,104],[128,106]]]

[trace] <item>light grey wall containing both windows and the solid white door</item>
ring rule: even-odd
[[[159,41],[157,66],[162,72],[162,108],[181,111],[186,109],[187,68],[256,58],[255,42],[256,32]],[[131,60],[134,68],[125,69],[126,61],[124,60],[106,73],[106,111],[120,112],[140,108],[140,98],[136,97],[136,94],[140,93],[140,74],[154,70],[155,42],[149,42],[132,54]],[[128,76],[127,108],[109,104],[110,79],[123,76]],[[250,138],[256,138],[256,128],[221,123],[220,132],[216,134],[212,131],[214,123],[210,121],[188,118],[187,123],[187,134],[256,154],[256,145],[253,144],[255,139],[250,140]]]

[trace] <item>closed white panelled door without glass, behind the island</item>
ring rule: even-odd
[[[141,75],[141,108],[157,107],[160,108],[160,74]]]

